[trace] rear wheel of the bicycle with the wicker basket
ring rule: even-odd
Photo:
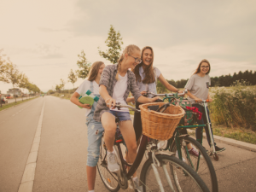
[[[120,187],[117,174],[108,170],[107,147],[103,139],[100,147],[100,156],[97,163],[97,169],[106,188],[112,192],[119,191]]]

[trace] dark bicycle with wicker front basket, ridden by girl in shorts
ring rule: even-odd
[[[97,164],[102,182],[110,191],[118,191],[120,188],[127,189],[128,181],[133,183],[132,175],[137,171],[138,166],[140,166],[143,161],[143,157],[145,157],[146,160],[140,174],[141,186],[140,189],[135,190],[161,192],[209,191],[207,185],[192,167],[182,160],[177,159],[175,153],[168,150],[160,150],[158,147],[160,139],[163,137],[164,139],[172,137],[169,124],[174,127],[177,126],[177,123],[183,117],[183,109],[178,106],[172,106],[172,108],[168,109],[169,114],[157,113],[148,111],[148,106],[151,104],[152,103],[141,105],[141,111],[129,105],[116,104],[117,108],[131,108],[131,110],[135,112],[141,112],[142,119],[145,119],[143,120],[143,137],[138,148],[136,160],[132,165],[129,165],[123,158],[124,150],[122,151],[121,148],[121,144],[124,144],[124,139],[119,134],[119,131],[116,133],[113,149],[115,153],[118,154],[119,172],[110,172],[108,170],[107,147],[104,143],[104,137],[102,137],[100,158]],[[165,103],[159,104],[164,105]],[[150,120],[150,124],[147,123],[148,120]],[[130,167],[128,172],[126,166]]]

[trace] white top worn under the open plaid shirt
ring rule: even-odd
[[[125,74],[125,77],[122,77],[119,75],[119,80],[116,82],[116,84],[113,87],[113,99],[115,102],[120,102],[123,105],[127,105],[124,96],[125,96],[125,90],[127,89],[127,73]],[[112,111],[119,111],[119,112],[129,112],[128,108],[120,108],[118,110],[117,108],[111,109]]]

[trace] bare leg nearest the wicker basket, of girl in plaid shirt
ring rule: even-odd
[[[136,136],[135,131],[132,126],[131,120],[125,120],[119,122],[120,131],[122,136],[125,139],[125,143],[128,149],[128,154],[126,155],[127,163],[132,164],[137,156],[137,143],[136,143]],[[133,174],[133,177],[136,177],[137,173]]]

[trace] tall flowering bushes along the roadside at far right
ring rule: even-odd
[[[237,80],[231,89],[212,89],[214,95],[210,110],[215,123],[256,130],[256,91],[248,84],[245,80]]]

